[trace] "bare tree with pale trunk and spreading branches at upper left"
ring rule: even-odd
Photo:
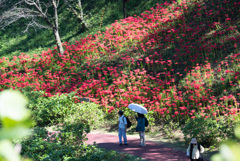
[[[6,0],[0,1],[4,2]],[[30,20],[25,31],[27,31],[29,27],[52,29],[58,50],[63,55],[64,50],[59,35],[58,24],[59,1],[60,0],[20,0],[12,4],[9,10],[1,14],[0,28],[4,29],[19,19],[25,18]],[[45,23],[41,20],[44,20]]]

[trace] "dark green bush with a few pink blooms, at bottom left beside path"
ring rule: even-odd
[[[84,154],[83,141],[89,131],[85,123],[66,124],[59,132],[37,127],[32,136],[20,141],[21,154],[33,160],[78,160]]]

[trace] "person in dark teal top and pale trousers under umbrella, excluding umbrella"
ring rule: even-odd
[[[135,116],[135,119],[137,120],[137,127],[136,131],[139,132],[140,136],[140,144],[139,146],[144,147],[145,144],[145,116],[144,114],[137,113],[138,117]]]

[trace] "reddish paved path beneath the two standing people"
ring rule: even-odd
[[[116,135],[90,133],[87,137],[87,144],[96,142],[100,147],[129,153],[149,161],[188,161],[186,153],[152,141],[146,141],[146,147],[140,147],[139,139],[132,136],[128,136],[128,145],[123,146],[118,145],[118,136]]]

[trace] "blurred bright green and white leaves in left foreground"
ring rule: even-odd
[[[0,93],[0,161],[21,160],[20,145],[14,148],[12,139],[31,134],[28,127],[32,125],[32,121],[26,104],[26,98],[18,91],[6,90]]]

